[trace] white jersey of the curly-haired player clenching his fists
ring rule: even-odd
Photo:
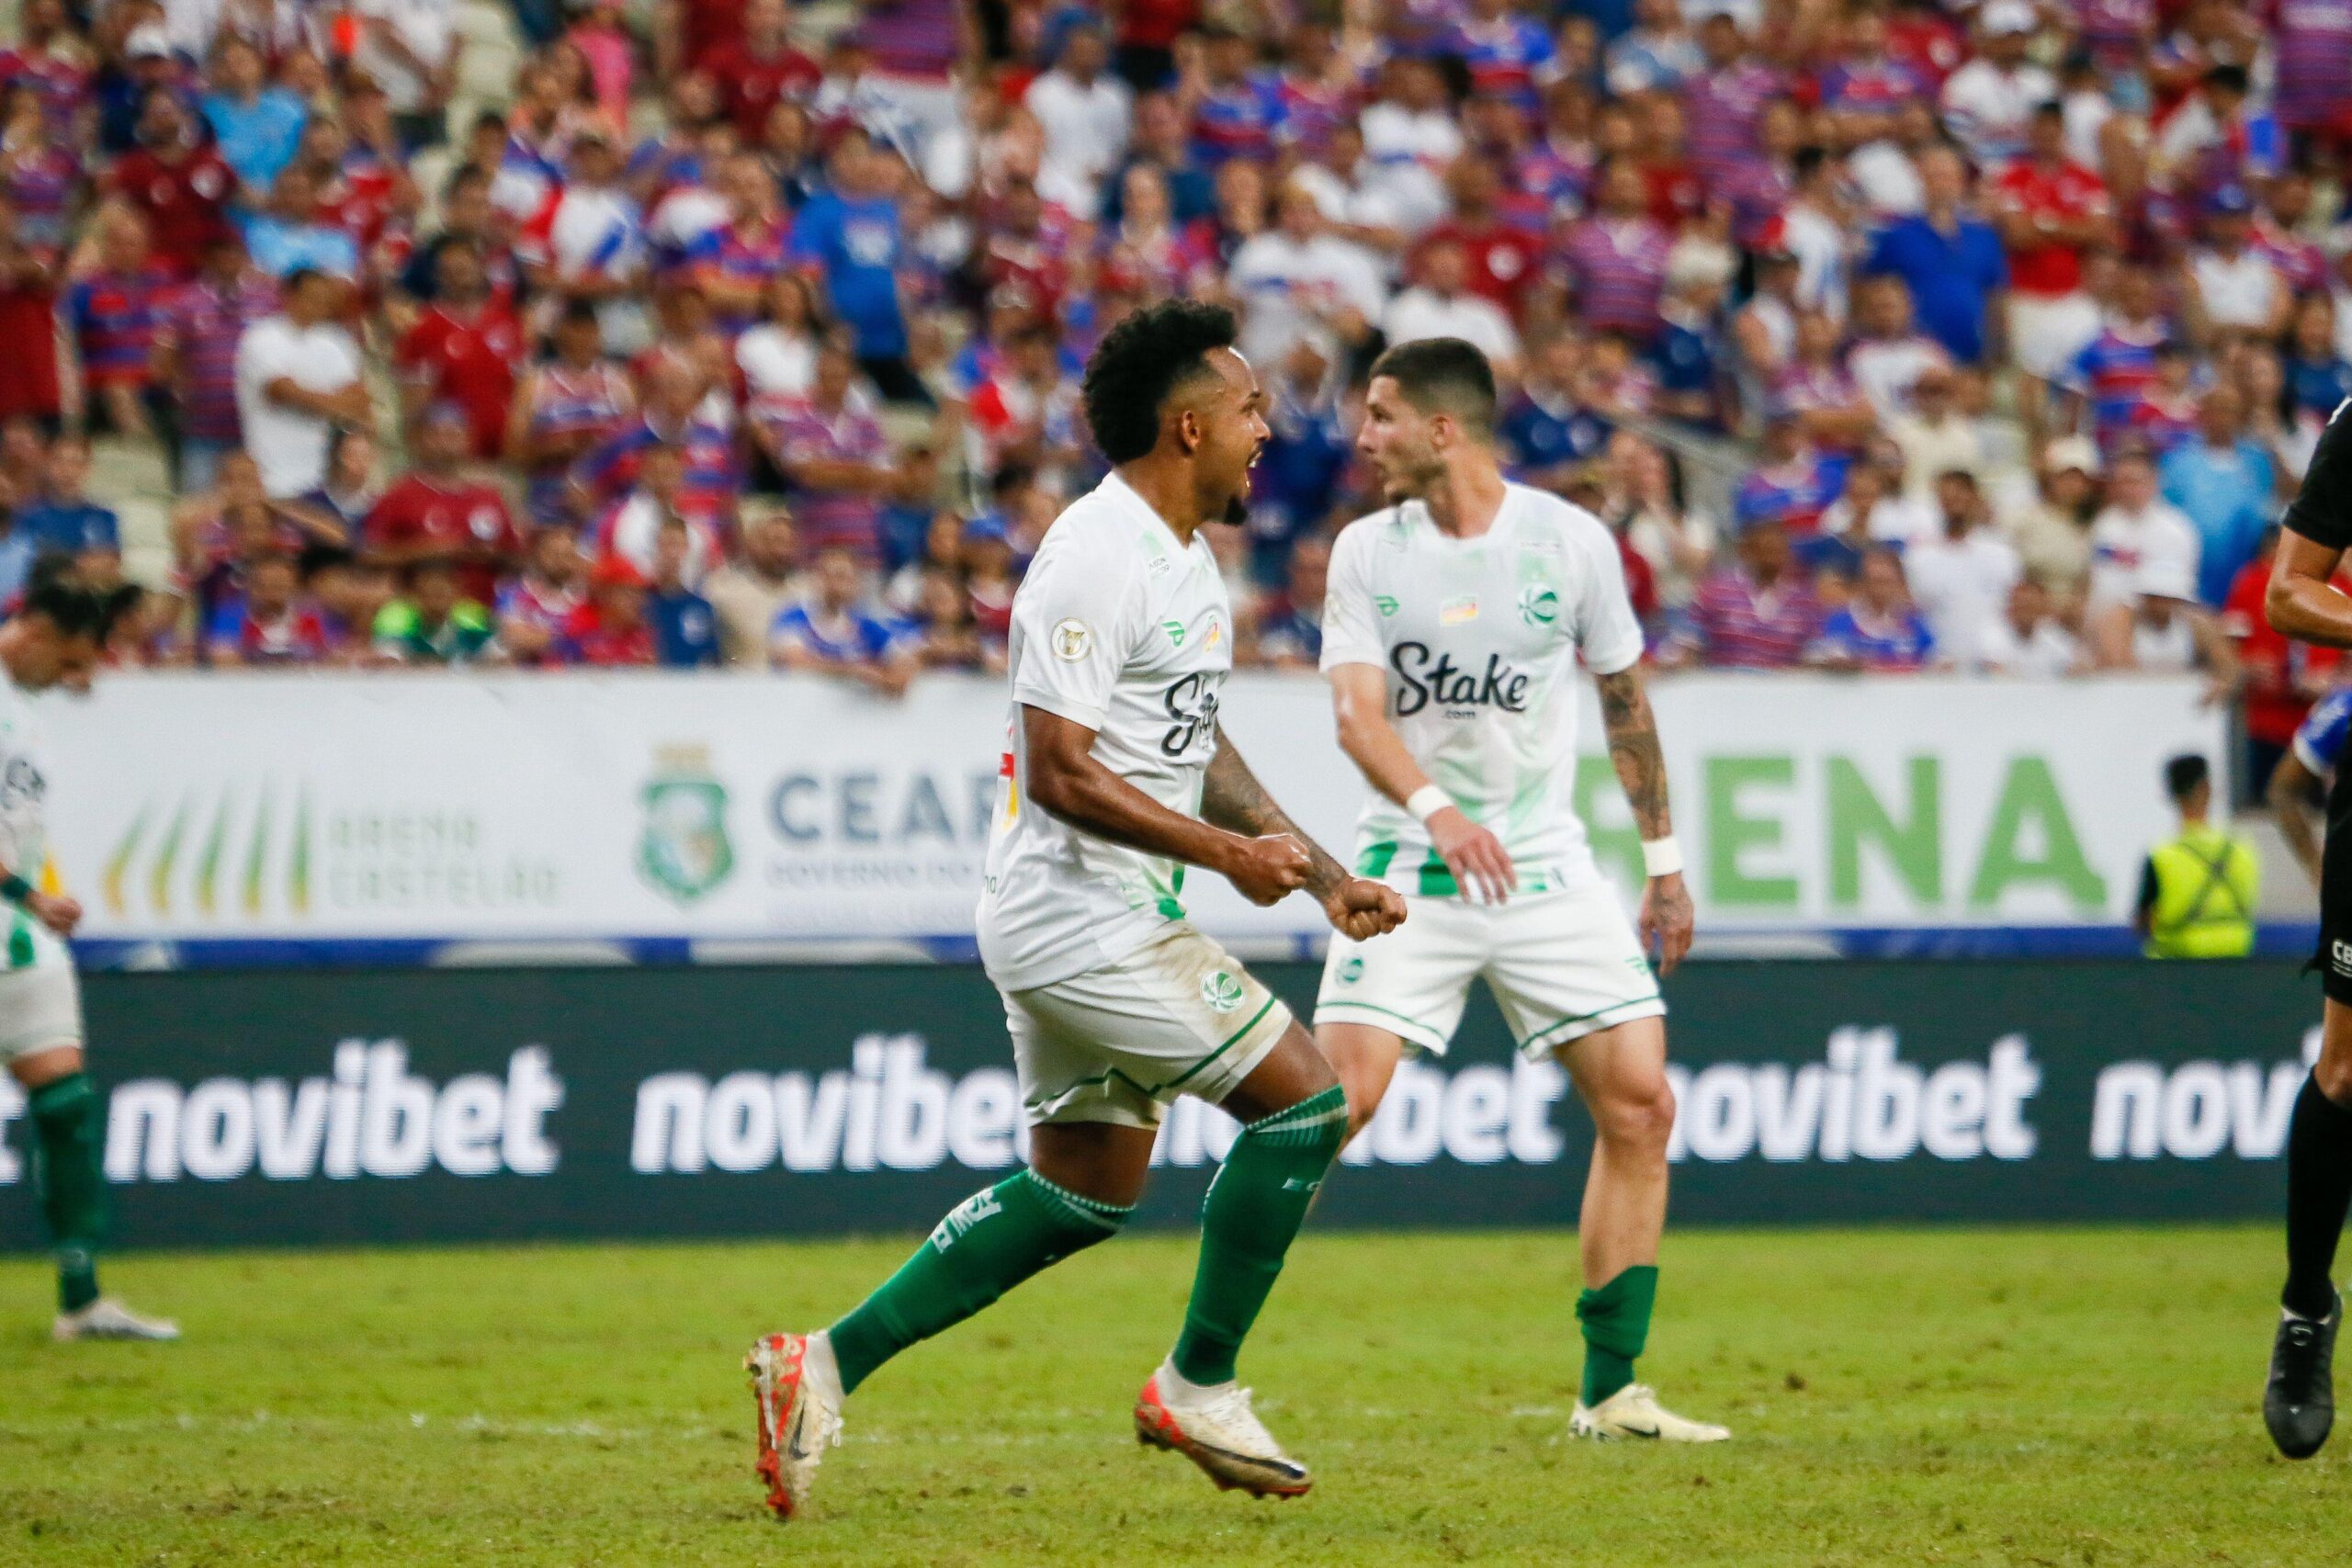
[[[1094,731],[1094,759],[1171,811],[1200,816],[1216,698],[1232,672],[1225,578],[1200,534],[1178,543],[1117,475],[1047,529],[1007,644],[1014,701],[978,938],[1002,990],[1115,961],[1171,919],[1183,865],[1082,832],[1025,792],[1021,708]]]

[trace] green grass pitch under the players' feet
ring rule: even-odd
[[[1242,1359],[1317,1472],[1129,1436],[1190,1237],[1127,1237],[884,1368],[809,1519],[736,1361],[906,1241],[129,1258],[176,1347],[52,1347],[0,1265],[0,1563],[2324,1563],[2352,1432],[2260,1427],[2265,1229],[1668,1239],[1642,1371],[1710,1450],[1566,1441],[1569,1234],[1308,1234]]]

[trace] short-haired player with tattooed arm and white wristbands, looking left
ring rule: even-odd
[[[1503,480],[1494,371],[1461,339],[1374,362],[1357,447],[1392,505],[1331,550],[1322,668],[1341,748],[1371,783],[1355,870],[1404,893],[1411,919],[1383,943],[1341,936],[1324,961],[1315,1039],[1348,1086],[1350,1135],[1406,1046],[1446,1051],[1484,978],[1519,1048],[1566,1067],[1597,1131],[1571,1432],[1722,1441],[1724,1427],[1684,1420],[1635,1382],[1675,1126],[1665,1001],[1644,950],[1656,943],[1672,971],[1691,945],[1691,896],[1616,541],[1583,508]],[[1578,654],[1642,827],[1639,936],[1569,804]]]

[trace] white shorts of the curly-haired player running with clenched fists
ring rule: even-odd
[[[1181,1093],[1211,1105],[1247,1079],[1291,1025],[1270,990],[1214,940],[1169,924],[1124,959],[1004,992],[1014,1072],[1030,1126],[1160,1126]]]

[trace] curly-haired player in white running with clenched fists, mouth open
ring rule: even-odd
[[[1310,844],[1218,726],[1232,611],[1202,529],[1242,522],[1268,437],[1232,339],[1228,310],[1176,301],[1120,322],[1087,367],[1087,423],[1112,473],[1054,522],[1014,599],[978,907],[1030,1164],[950,1211],[833,1328],[753,1347],[760,1474],[783,1519],[875,1368],[1127,1222],[1178,1093],[1223,1105],[1242,1133],[1209,1185],[1192,1300],[1136,1399],[1136,1434],[1218,1488],[1294,1497],[1312,1483],[1251,1413],[1235,1356],[1338,1154],[1348,1100],[1289,1009],[1178,898],[1188,865],[1258,905],[1305,889],[1352,943],[1395,929],[1404,900]]]

